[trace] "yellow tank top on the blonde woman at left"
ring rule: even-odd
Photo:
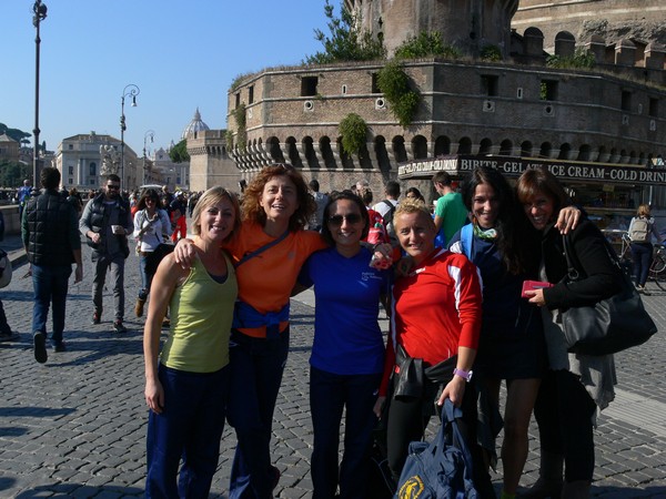
[[[161,363],[190,373],[214,373],[229,364],[229,337],[239,287],[226,261],[226,279],[218,283],[198,258],[170,303],[171,330]]]

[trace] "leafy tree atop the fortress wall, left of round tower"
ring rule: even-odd
[[[386,49],[381,40],[375,40],[370,31],[362,31],[359,20],[344,4],[340,18],[333,16],[333,6],[326,0],[324,14],[329,18],[330,35],[314,30],[315,39],[324,45],[323,52],[309,55],[307,64],[329,64],[345,61],[372,61],[385,59]]]

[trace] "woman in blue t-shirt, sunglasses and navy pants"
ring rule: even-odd
[[[367,451],[376,424],[373,406],[384,369],[384,340],[377,323],[389,272],[370,267],[367,210],[350,191],[334,194],[324,208],[322,236],[330,248],[314,253],[299,283],[314,285],[314,342],[310,357],[310,407],[314,432],[313,497],[364,497]],[[345,413],[344,454],[339,465],[340,426]]]

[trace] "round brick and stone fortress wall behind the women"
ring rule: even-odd
[[[363,19],[375,29],[389,31],[391,22],[398,23],[406,14],[381,8],[413,3],[414,14],[402,28],[425,29],[431,21],[423,6],[433,3],[433,8],[445,9],[441,6],[447,2],[346,0],[346,3],[352,8],[376,9],[366,11],[367,18]],[[658,41],[606,40],[598,34],[581,41],[572,30],[545,35],[553,31],[549,26],[545,31],[533,26],[522,32],[512,31],[506,20],[511,20],[517,2],[464,3],[463,10],[481,31],[468,31],[468,26],[464,26],[458,31],[450,28],[453,31],[448,34],[457,37],[456,43],[470,55],[461,60],[405,63],[413,85],[422,94],[420,110],[408,128],[397,123],[376,88],[381,61],[266,69],[244,78],[228,93],[228,128],[236,143],[226,144],[219,132],[215,136],[204,134],[198,141],[189,141],[189,151],[192,149],[199,157],[192,159],[193,164],[199,161],[201,172],[206,172],[214,170],[211,169],[214,162],[234,163],[239,175],[250,180],[263,165],[285,161],[302,169],[306,177],[317,179],[322,191],[349,189],[365,179],[380,197],[383,184],[397,176],[398,164],[442,154],[521,155],[636,165],[645,165],[663,154],[666,54]],[[528,3],[522,1],[521,9],[529,7]],[[666,12],[658,17],[664,24]],[[461,27],[455,18],[444,24]],[[494,38],[493,24],[498,31]],[[474,44],[470,40],[480,41]],[[506,52],[503,62],[482,62],[474,57],[484,43],[491,42]],[[562,57],[573,54],[576,49],[587,50],[597,65],[589,71],[549,68],[546,47],[553,47],[549,53]],[[234,113],[241,105],[245,106],[241,135],[246,134],[246,147],[238,146]],[[349,156],[342,151],[339,123],[352,112],[367,123],[369,133],[366,146]]]

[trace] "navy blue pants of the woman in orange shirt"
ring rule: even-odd
[[[235,329],[231,333],[228,418],[238,445],[229,499],[273,497],[271,434],[287,353],[289,327],[274,339],[254,338]]]

